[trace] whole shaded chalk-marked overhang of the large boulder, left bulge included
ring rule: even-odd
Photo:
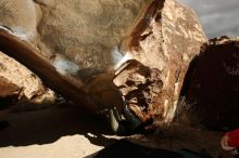
[[[112,69],[123,57],[117,44],[150,1],[2,0],[0,25],[30,41],[59,73],[79,78],[88,87],[91,78]],[[106,76],[105,80],[97,77],[89,87],[104,85],[113,77]],[[112,81],[109,84],[118,93]],[[91,96],[97,93],[95,88],[88,91]],[[96,98],[96,103],[106,102],[104,98]]]

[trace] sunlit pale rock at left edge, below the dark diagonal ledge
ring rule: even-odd
[[[8,83],[8,87],[3,83],[0,85],[2,97],[15,96],[12,97],[14,103],[22,98],[33,103],[54,102],[54,93],[45,88],[35,74],[2,52],[0,52],[0,82]],[[8,100],[8,104],[12,104],[12,100]]]

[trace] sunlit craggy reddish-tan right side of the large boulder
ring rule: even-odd
[[[123,41],[134,61],[116,73],[114,83],[133,111],[155,126],[174,118],[185,74],[206,42],[198,17],[174,0],[154,1]]]

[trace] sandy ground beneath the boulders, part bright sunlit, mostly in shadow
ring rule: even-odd
[[[0,158],[90,158],[118,140],[106,122],[76,107],[56,106],[34,111],[1,111],[10,126],[0,131]],[[222,132],[174,123],[164,133],[134,135],[143,146],[178,150],[189,148],[213,157],[231,157],[219,146]]]

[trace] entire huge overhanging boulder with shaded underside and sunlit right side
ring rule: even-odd
[[[0,24],[85,83],[95,104],[121,106],[122,93],[153,126],[172,121],[189,63],[207,40],[194,12],[174,0],[0,3]]]

